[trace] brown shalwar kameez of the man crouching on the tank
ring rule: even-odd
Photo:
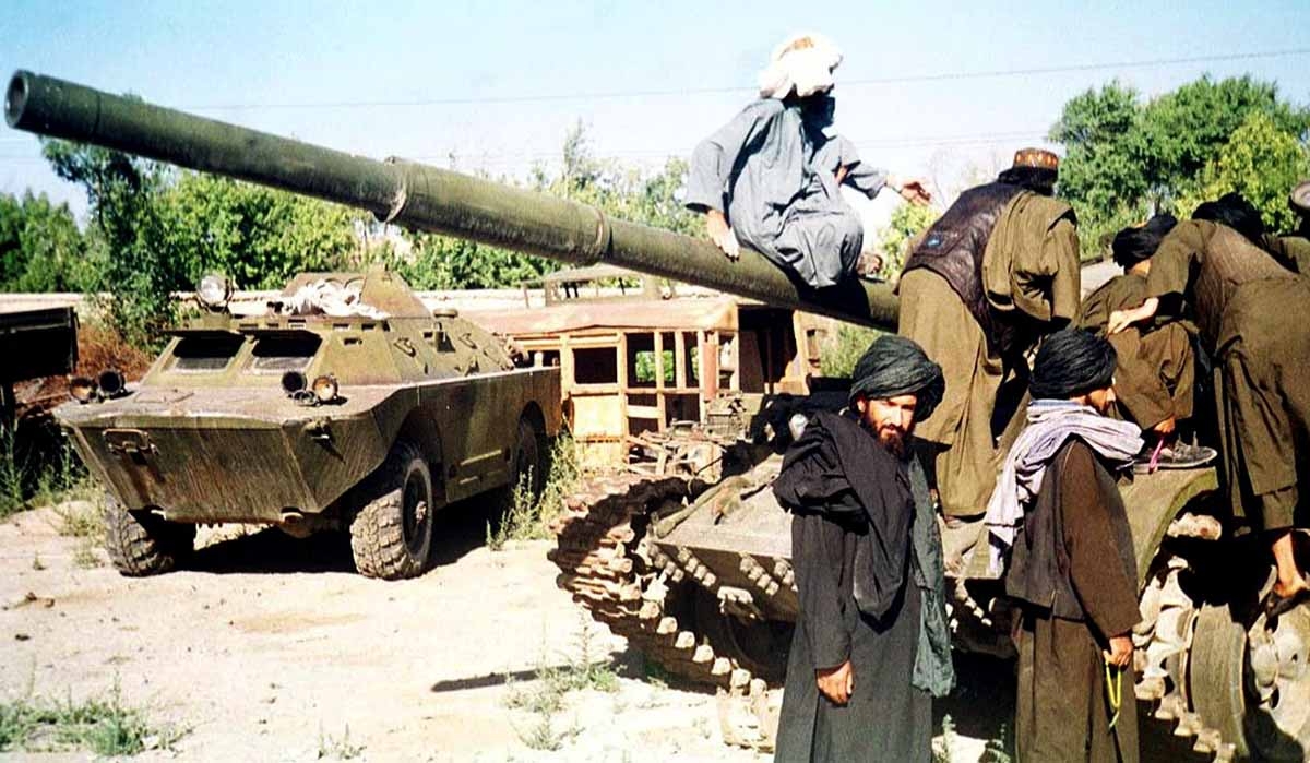
[[[1125,273],[1107,281],[1082,303],[1078,326],[1102,333],[1110,313],[1146,302],[1146,278]],[[1192,326],[1179,320],[1133,326],[1108,337],[1116,353],[1116,414],[1150,429],[1169,417],[1191,418],[1196,357]]]

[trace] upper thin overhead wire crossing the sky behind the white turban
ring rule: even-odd
[[[1238,62],[1238,60],[1288,58],[1297,55],[1310,55],[1310,47],[1271,50],[1259,52],[1235,52],[1227,55],[1199,55],[1187,58],[1157,58],[1157,59],[1119,60],[1119,62],[1100,62],[1100,63],[1061,64],[1061,66],[1030,67],[1030,68],[1015,68],[1015,69],[988,69],[988,71],[973,71],[973,72],[958,71],[958,72],[935,72],[935,73],[922,73],[922,75],[897,75],[888,77],[863,77],[863,79],[850,79],[850,80],[842,79],[840,80],[840,85],[842,89],[846,89],[852,87],[867,87],[867,85],[895,85],[895,84],[935,83],[935,81],[950,81],[950,80],[984,80],[984,79],[1000,79],[1000,77],[1023,77],[1023,76],[1058,75],[1058,73],[1072,73],[1072,72],[1091,72],[1103,69],[1153,68],[1153,67],[1197,64],[1197,63],[1225,63],[1225,62]],[[291,102],[190,104],[190,105],[182,105],[181,108],[194,109],[198,111],[246,110],[246,109],[375,109],[375,108],[402,108],[402,106],[403,108],[461,106],[472,104],[605,101],[617,98],[668,98],[668,97],[686,97],[686,96],[753,93],[753,92],[755,88],[718,87],[718,88],[673,88],[673,89],[648,89],[648,90],[534,93],[534,94],[517,94],[517,96],[460,96],[451,98],[415,98],[415,100],[392,100],[392,101],[317,101],[317,102],[307,101],[301,104],[291,104]]]

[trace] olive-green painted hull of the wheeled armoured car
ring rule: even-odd
[[[393,274],[363,281],[385,319],[211,313],[174,338],[127,396],[56,410],[97,479],[127,509],[177,522],[280,522],[330,511],[406,437],[424,448],[439,503],[504,486],[520,416],[559,429],[557,368],[515,368],[499,340],[457,316],[432,317]],[[232,337],[219,368],[187,370],[189,338]],[[282,368],[257,368],[262,338],[308,337],[300,371],[333,375],[341,401],[305,406]]]

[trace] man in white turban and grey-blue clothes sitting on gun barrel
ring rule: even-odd
[[[823,35],[785,41],[760,75],[760,98],[696,147],[686,182],[686,206],[706,215],[728,258],[744,244],[812,288],[852,277],[859,260],[863,227],[841,184],[870,198],[889,185],[929,201],[922,184],[863,164],[849,140],[832,135],[840,63]]]

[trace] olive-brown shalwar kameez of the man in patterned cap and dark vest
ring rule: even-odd
[[[980,277],[992,307],[1020,312],[1030,326],[1073,320],[1081,274],[1078,235],[1069,207],[1031,193],[1015,197],[992,231]],[[1020,408],[1027,368],[1005,368],[977,319],[937,273],[909,270],[899,291],[897,333],[918,342],[951,380],[942,404],[916,429],[917,438],[937,454],[933,465],[942,511],[947,517],[981,514],[996,486],[1001,456],[1013,439],[1007,435],[1018,431],[1009,425]],[[1013,400],[996,417],[1002,382],[1006,388],[1011,382],[1018,384]]]

